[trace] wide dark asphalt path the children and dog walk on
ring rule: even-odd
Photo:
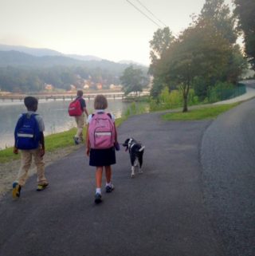
[[[0,255],[233,256],[230,238],[218,230],[225,226],[212,211],[214,187],[206,190],[207,153],[200,158],[208,141],[203,135],[210,136],[214,122],[164,122],[160,116],[132,116],[118,129],[120,142],[132,136],[145,145],[143,175],[131,179],[121,148],[113,166],[116,189],[103,193],[100,205],[93,202],[95,170],[84,148],[46,168],[45,191],[35,191],[33,176],[20,199],[6,195],[0,202]]]

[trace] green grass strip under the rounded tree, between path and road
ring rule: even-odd
[[[226,112],[231,108],[237,106],[234,104],[222,104],[205,108],[192,109],[188,112],[171,112],[162,116],[163,120],[206,120],[214,119],[222,112]]]

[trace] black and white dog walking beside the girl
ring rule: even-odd
[[[143,152],[145,147],[133,138],[125,140],[123,146],[126,147],[126,151],[129,152],[131,160],[131,178],[135,176],[135,167],[138,167],[138,163],[139,173],[143,173],[141,167],[143,165]]]

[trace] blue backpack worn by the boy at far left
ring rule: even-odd
[[[18,120],[14,132],[16,148],[35,149],[39,147],[41,132],[36,115],[25,113]]]

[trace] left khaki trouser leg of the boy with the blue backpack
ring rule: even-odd
[[[29,150],[21,150],[21,167],[18,171],[17,181],[21,186],[24,186],[27,179],[29,167],[32,163],[32,154]]]

